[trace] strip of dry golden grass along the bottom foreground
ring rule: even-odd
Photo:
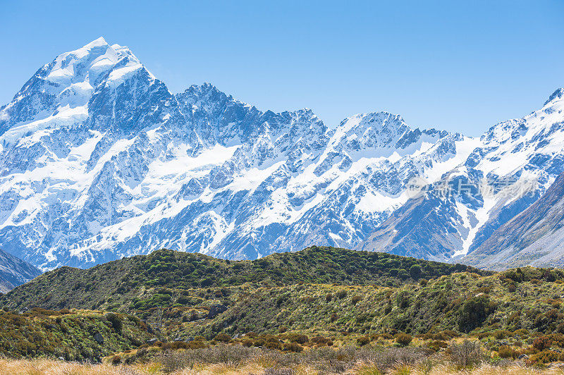
[[[413,348],[341,348],[284,355],[273,350],[219,345],[200,350],[161,352],[150,361],[133,364],[80,364],[54,359],[0,359],[0,374],[564,374],[559,367],[526,367],[520,362],[491,363],[484,359],[462,366],[464,358],[431,357]]]

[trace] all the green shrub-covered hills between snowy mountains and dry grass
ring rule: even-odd
[[[252,262],[161,250],[63,267],[1,296],[0,352],[96,359],[125,350],[120,359],[147,338],[168,349],[225,342],[299,352],[308,342],[408,345],[414,336],[440,351],[465,336],[544,363],[559,356],[550,345],[564,347],[563,302],[558,269],[493,273],[331,247]]]

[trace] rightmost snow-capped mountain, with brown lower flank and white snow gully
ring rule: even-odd
[[[489,129],[462,164],[395,211],[357,249],[463,262],[564,171],[563,92],[556,90],[538,111]],[[490,266],[487,259],[481,265]]]

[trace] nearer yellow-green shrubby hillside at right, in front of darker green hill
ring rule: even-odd
[[[526,330],[564,333],[564,273],[523,269],[462,272],[399,287],[297,284],[173,291],[164,331],[176,336],[300,331],[308,334],[412,335]],[[135,314],[146,314],[140,299]],[[219,307],[223,307],[220,309]],[[210,314],[212,312],[212,314]],[[175,337],[176,337],[175,336]]]

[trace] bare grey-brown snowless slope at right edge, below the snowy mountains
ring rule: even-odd
[[[528,209],[462,258],[494,269],[564,265],[564,173]]]

